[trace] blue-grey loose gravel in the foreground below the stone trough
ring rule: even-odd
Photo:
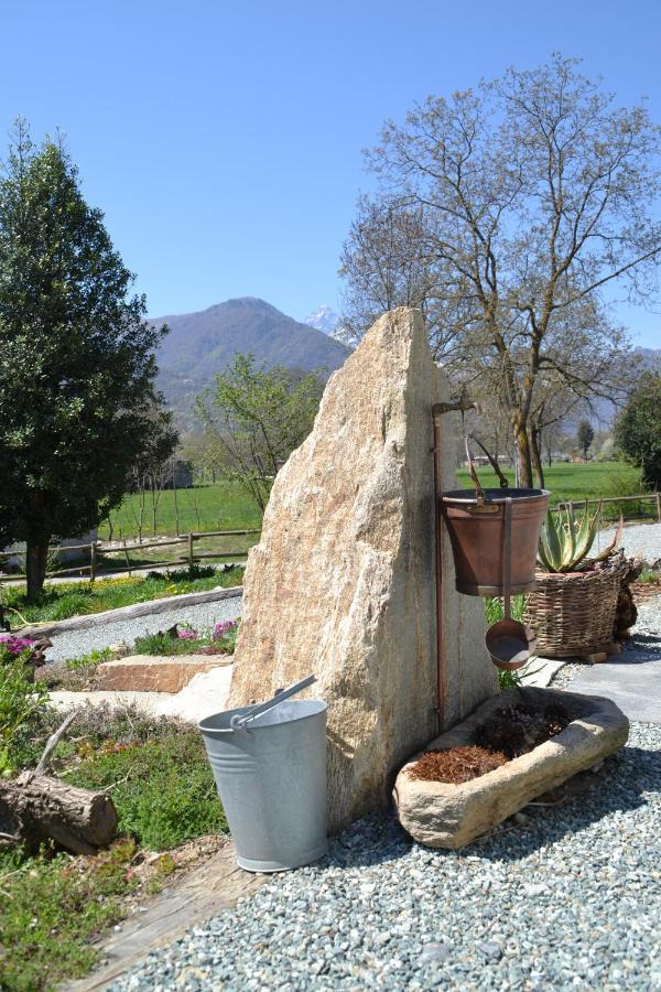
[[[460,852],[359,821],[317,865],[150,955],[120,990],[661,988],[661,727]]]

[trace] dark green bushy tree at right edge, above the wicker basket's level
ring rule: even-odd
[[[617,419],[615,440],[651,489],[661,488],[661,374],[644,373]]]

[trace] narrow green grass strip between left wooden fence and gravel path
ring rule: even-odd
[[[210,571],[210,570],[209,570]],[[2,590],[2,602],[9,610],[12,627],[26,623],[44,623],[66,619],[79,614],[100,613],[118,606],[133,603],[145,603],[180,593],[204,592],[217,585],[225,587],[240,585],[243,581],[242,569],[230,569],[227,572],[214,572],[205,578],[196,578],[196,572],[187,570],[166,574],[160,578],[97,579],[96,582],[62,582],[46,585],[36,603],[25,601],[25,586],[7,585]]]

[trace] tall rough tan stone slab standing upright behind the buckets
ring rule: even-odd
[[[248,560],[229,704],[316,675],[308,694],[328,703],[332,828],[384,806],[398,768],[437,731],[431,409],[449,395],[421,314],[384,314],[330,377]],[[457,421],[443,418],[445,488]],[[455,592],[446,537],[443,561],[448,726],[497,679],[483,603]]]

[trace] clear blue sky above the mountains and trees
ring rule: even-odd
[[[661,122],[660,43],[658,0],[8,0],[0,127],[66,131],[152,315],[256,295],[302,319],[337,306],[384,118],[560,51]],[[661,316],[621,317],[661,346]]]

